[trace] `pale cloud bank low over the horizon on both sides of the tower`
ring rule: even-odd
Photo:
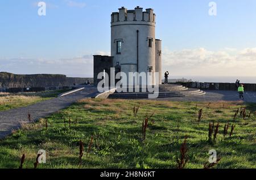
[[[97,52],[97,55],[110,55]],[[255,76],[256,48],[209,51],[205,48],[171,51],[163,49],[163,72],[172,76]],[[49,60],[44,58],[0,58],[0,71],[16,74],[53,73],[70,77],[92,77],[93,55]],[[162,74],[163,75],[163,74]]]

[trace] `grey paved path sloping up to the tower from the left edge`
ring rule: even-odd
[[[28,114],[31,115],[31,120],[35,121],[66,108],[79,99],[94,97],[96,94],[96,88],[86,87],[84,90],[64,97],[53,98],[30,106],[0,112],[0,139],[10,135],[14,129],[18,129],[20,123],[28,122]]]

